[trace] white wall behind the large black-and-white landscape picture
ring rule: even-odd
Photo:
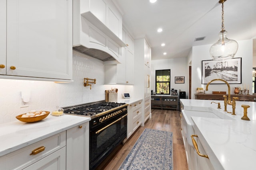
[[[192,99],[195,98],[194,93],[196,93],[196,88],[205,88],[206,84],[201,84],[202,79],[202,61],[212,60],[210,57],[209,49],[211,45],[201,45],[194,46],[192,49]],[[235,58],[242,57],[242,84],[249,85],[249,89],[252,89],[252,39],[238,41],[238,51]],[[231,94],[234,94],[234,87],[240,87],[241,84],[230,84]],[[226,84],[211,84],[208,87],[208,92],[212,91],[226,91],[228,92],[228,87]],[[249,92],[252,94],[252,90]]]

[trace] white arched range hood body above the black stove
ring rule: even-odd
[[[126,47],[120,39],[122,28],[118,37],[92,12],[81,14],[80,10],[74,10],[75,6],[79,4],[73,1],[73,50],[101,61],[120,63],[122,47]]]

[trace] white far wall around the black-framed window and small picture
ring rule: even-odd
[[[171,70],[171,84],[170,88],[175,90],[185,91],[188,96],[188,64],[187,57],[164,59],[164,60],[153,60],[151,61],[151,90],[156,91],[156,70]],[[184,84],[175,84],[174,77],[184,76]]]

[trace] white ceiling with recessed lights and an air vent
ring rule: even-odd
[[[152,47],[152,60],[187,57],[192,46],[218,41],[222,10],[218,0],[157,0],[153,4],[149,0],[112,1],[134,39],[146,37]],[[255,37],[256,0],[227,0],[224,26],[229,39]],[[157,32],[159,27],[161,33]],[[196,37],[206,38],[195,42]],[[161,43],[166,46],[161,47]]]

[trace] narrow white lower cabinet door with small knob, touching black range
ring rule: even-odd
[[[67,130],[67,170],[89,169],[89,123]]]

